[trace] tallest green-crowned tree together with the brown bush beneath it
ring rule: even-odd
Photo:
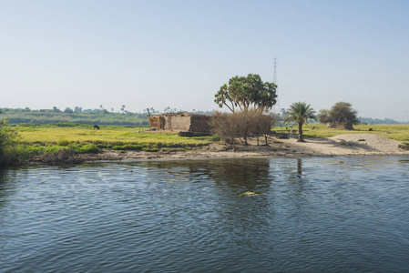
[[[214,102],[232,112],[216,113],[210,122],[211,133],[228,144],[234,144],[239,138],[248,145],[250,136],[256,136],[259,145],[260,136],[268,135],[277,121],[268,114],[277,102],[277,86],[263,82],[257,74],[231,77],[229,84],[220,87]],[[265,145],[268,145],[267,137]]]

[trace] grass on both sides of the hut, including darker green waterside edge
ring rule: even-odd
[[[312,129],[312,126],[315,128]],[[369,131],[370,128],[373,131]],[[182,137],[177,133],[147,131],[147,127],[100,126],[100,130],[95,130],[92,126],[63,125],[15,126],[14,129],[21,145],[50,152],[66,147],[72,147],[77,153],[97,152],[101,148],[145,151],[164,148],[189,149],[207,145],[213,140],[211,136]],[[409,125],[360,125],[354,126],[354,130],[327,128],[326,125],[317,124],[304,126],[304,134],[309,137],[363,133],[402,142],[409,141]]]

